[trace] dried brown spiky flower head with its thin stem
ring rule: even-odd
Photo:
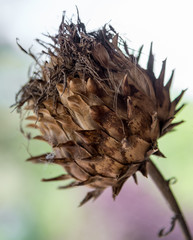
[[[137,171],[150,174],[175,213],[171,230],[178,219],[191,239],[168,183],[150,160],[152,154],[164,157],[157,139],[182,123],[172,123],[184,94],[170,100],[174,71],[164,85],[166,60],[156,78],[152,45],[144,69],[139,65],[142,47],[134,56],[112,26],[87,32],[79,16],[77,23],[63,17],[58,34],[48,37],[52,44],[37,40],[47,61],[41,63],[28,52],[38,71],[17,94],[16,106],[33,111],[28,126],[39,129],[35,139],[50,144],[53,153],[28,160],[51,160],[65,169],[65,174],[44,181],[72,179],[61,188],[93,188],[80,205],[107,187],[115,198],[129,177],[137,181]]]

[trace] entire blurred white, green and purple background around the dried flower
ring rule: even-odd
[[[88,30],[109,23],[136,51],[144,44],[141,59],[146,66],[150,42],[154,42],[155,72],[167,57],[168,79],[176,69],[172,98],[188,88],[177,116],[185,123],[159,141],[166,159],[154,162],[166,179],[175,176],[172,190],[193,232],[193,35],[192,5],[184,0],[0,0],[0,239],[2,240],[155,240],[157,232],[170,226],[172,212],[151,179],[138,174],[139,184],[129,179],[116,201],[111,190],[94,203],[78,208],[89,189],[57,190],[62,183],[43,183],[42,178],[62,173],[53,165],[25,162],[49,151],[44,143],[28,142],[20,133],[19,114],[10,108],[15,94],[28,80],[33,60],[17,46],[41,51],[34,39],[57,33],[66,10]],[[183,239],[180,228],[166,240]]]

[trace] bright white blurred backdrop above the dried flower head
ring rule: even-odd
[[[156,73],[166,57],[167,74],[176,69],[173,89],[188,88],[186,96],[193,97],[193,35],[191,0],[4,0],[0,1],[1,41],[14,47],[15,38],[30,47],[42,33],[55,33],[62,11],[80,16],[89,30],[110,23],[136,50],[144,44],[142,64],[145,66],[150,42],[154,42]],[[166,79],[167,80],[167,79]]]

